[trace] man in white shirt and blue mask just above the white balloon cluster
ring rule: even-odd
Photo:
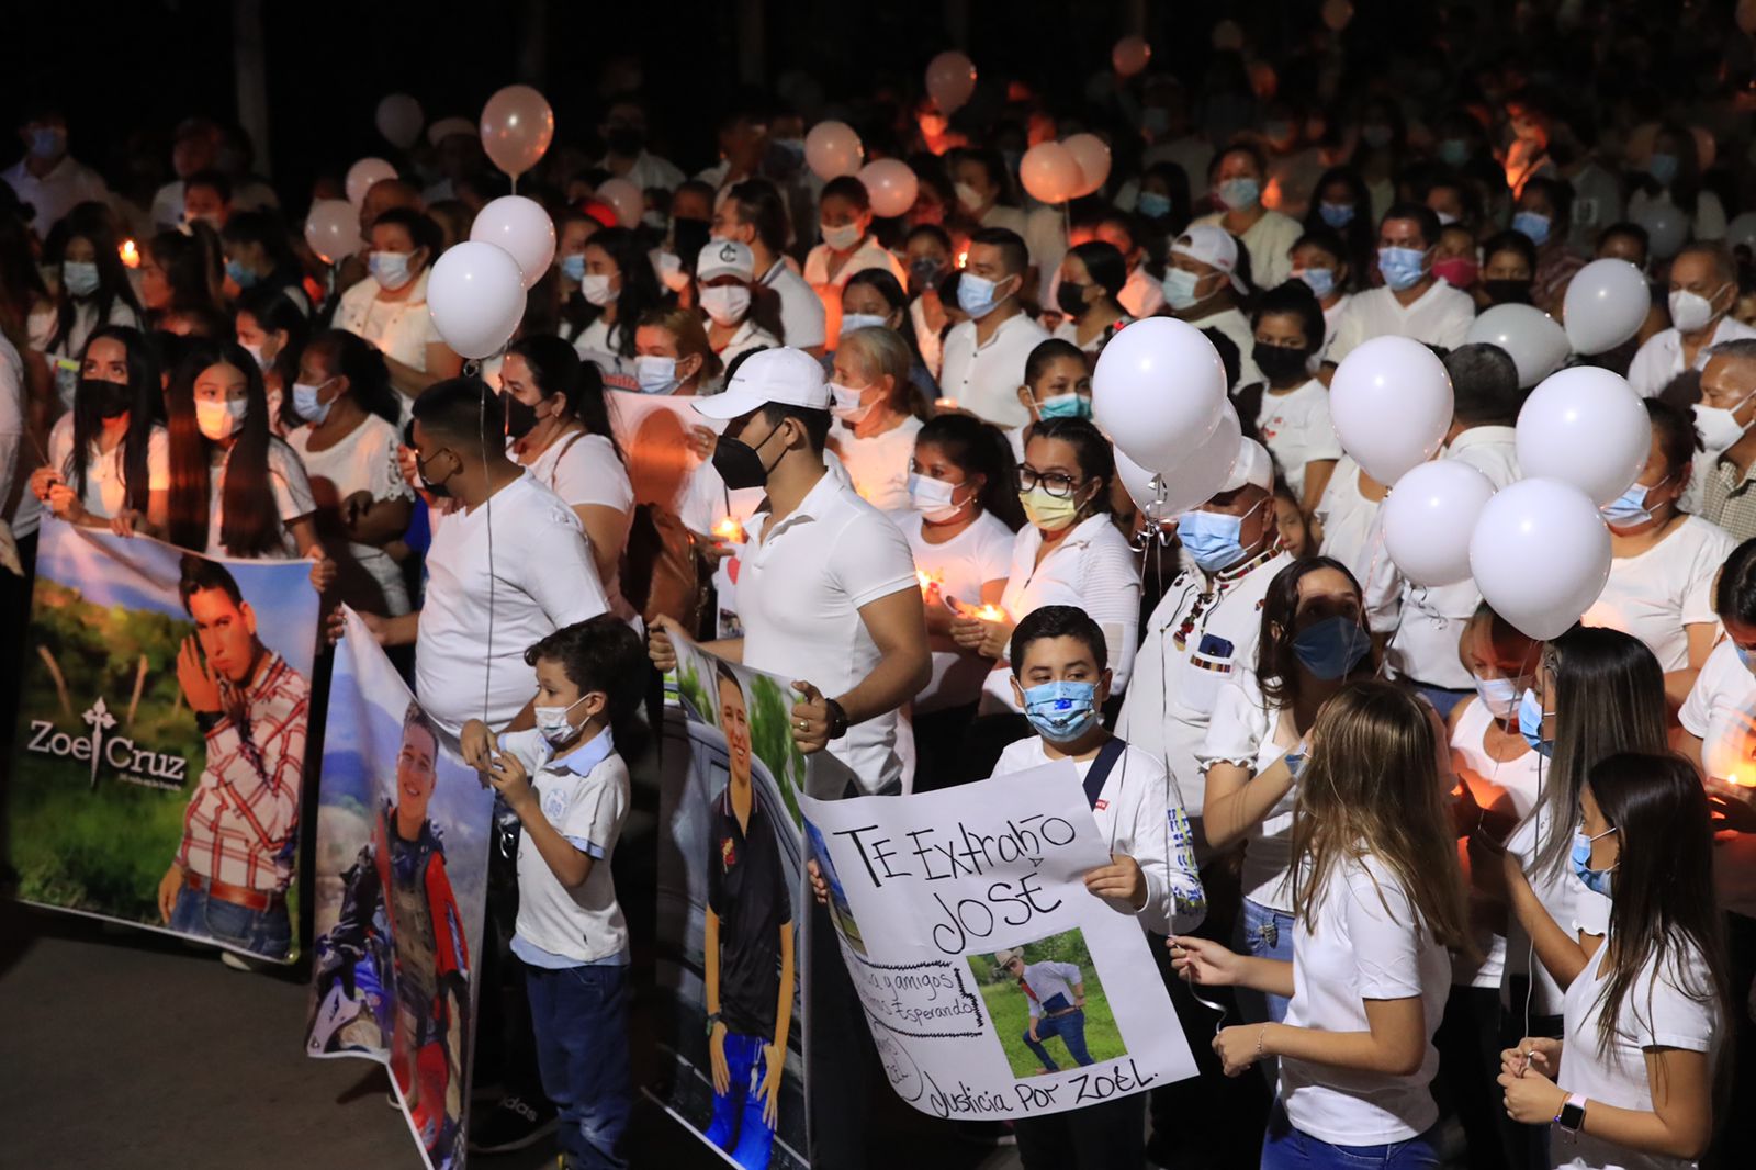
[[[1475,321],[1470,293],[1433,276],[1433,248],[1438,244],[1438,216],[1424,204],[1396,204],[1378,225],[1378,271],[1384,286],[1356,295],[1342,309],[1335,341],[1324,353],[1324,365],[1342,358],[1373,337],[1414,337],[1429,346],[1456,350]]]

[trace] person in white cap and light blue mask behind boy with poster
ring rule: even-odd
[[[1275,527],[1275,467],[1268,451],[1243,439],[1231,476],[1205,504],[1184,513],[1177,534],[1192,567],[1184,569],[1152,611],[1134,678],[1122,701],[1117,736],[1164,759],[1194,826],[1196,856],[1206,857],[1201,833],[1205,780],[1196,750],[1220,687],[1238,668],[1256,669],[1263,597],[1292,555]]]

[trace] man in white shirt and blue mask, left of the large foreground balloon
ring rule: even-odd
[[[1024,427],[1031,413],[1018,402],[1024,362],[1048,341],[1024,314],[1018,290],[1031,267],[1024,239],[1008,228],[982,228],[969,237],[969,256],[957,278],[957,306],[969,320],[945,337],[939,386],[961,408],[997,427]]]

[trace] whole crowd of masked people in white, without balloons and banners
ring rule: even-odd
[[[1136,1094],[1017,1126],[1026,1166],[1735,1165],[1756,1126],[1756,54],[1724,7],[1659,35],[1638,5],[1519,5],[1514,46],[1456,4],[1431,42],[1364,58],[1333,26],[1270,53],[1227,21],[1205,74],[1103,74],[1080,100],[887,86],[843,114],[917,179],[890,218],[804,165],[822,111],[715,104],[718,156],[690,174],[613,95],[518,183],[555,258],[485,362],[427,309],[434,264],[509,190],[469,121],[392,155],[358,255],[330,264],[295,225],[341,170],[277,190],[237,126],[190,118],[146,199],[79,162],[97,126],[33,105],[0,174],[4,641],[44,515],[309,559],[365,618],[523,824],[497,864],[536,912],[495,903],[490,964],[532,971],[539,1026],[481,1151],[560,1105],[567,1165],[622,1165],[625,1049],[594,1065],[567,1029],[627,1024],[608,729],[639,697],[632,625],[660,669],[690,638],[794,680],[795,740],[848,794],[1059,759],[1101,792],[1124,752],[1131,799],[1157,794],[1092,796],[1122,827],[1089,884],[1166,936],[1164,1024],[1205,1075],[1154,1091],[1150,1121]],[[1022,195],[1022,151],[1075,132],[1108,146],[1099,188]],[[637,216],[599,197],[613,179]],[[1456,401],[1438,459],[1505,487],[1528,385],[1472,323],[1561,316],[1605,256],[1651,309],[1570,362],[1628,378],[1652,448],[1603,508],[1601,596],[1536,641],[1472,581],[1400,574],[1389,485],[1342,450],[1328,386],[1371,339],[1431,346]],[[1212,341],[1243,429],[1175,518],[1092,420],[1105,346],[1164,314]],[[671,497],[630,478],[636,395],[692,408]],[[564,945],[587,901],[620,949]],[[599,980],[588,1007],[551,979],[569,966]],[[811,994],[848,1022],[813,1029],[813,1059],[873,1063],[845,977]],[[864,1117],[867,1084],[818,1075],[811,1107]],[[864,1137],[820,1126],[815,1165],[864,1165]]]

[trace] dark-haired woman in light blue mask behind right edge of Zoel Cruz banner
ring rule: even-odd
[[[318,334],[299,357],[288,397],[304,425],[286,444],[311,481],[335,592],[362,613],[407,613],[409,590],[390,550],[414,515],[414,490],[397,469],[399,402],[385,358],[349,332]]]

